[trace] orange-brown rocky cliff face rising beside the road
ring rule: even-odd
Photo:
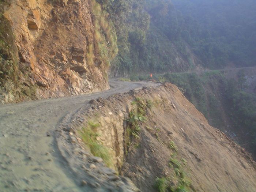
[[[116,39],[108,15],[99,22],[97,10],[103,13],[90,0],[2,2],[1,23],[9,30],[1,31],[1,41],[12,36],[14,42],[6,48],[9,58],[0,52],[1,63],[12,61],[9,76],[6,68],[0,69],[2,102],[108,89],[108,63],[117,52]]]

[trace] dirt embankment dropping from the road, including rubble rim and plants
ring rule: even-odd
[[[66,117],[60,128],[61,154],[83,184],[95,191],[121,191],[129,182],[106,169],[104,158],[93,158],[90,151],[94,149],[83,140],[84,130],[89,129],[95,133],[94,142],[113,157],[109,166],[129,177],[141,191],[155,191],[156,178],[192,191],[256,191],[255,162],[211,127],[172,84],[92,100]]]

